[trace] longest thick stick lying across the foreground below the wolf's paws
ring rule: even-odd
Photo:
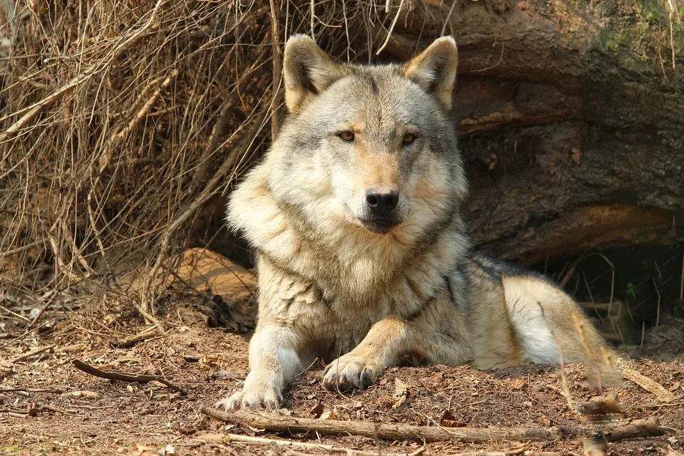
[[[440,426],[415,426],[399,423],[375,423],[359,421],[315,420],[280,415],[265,415],[241,410],[224,412],[203,405],[202,413],[212,418],[239,423],[258,429],[277,432],[318,432],[321,435],[363,435],[383,440],[414,440],[417,442],[504,442],[569,440],[583,435],[603,435],[608,440],[665,435],[667,429],[660,427],[658,418],[618,422],[594,427],[459,427],[447,430]]]

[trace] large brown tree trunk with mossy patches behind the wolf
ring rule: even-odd
[[[408,58],[448,18],[478,249],[534,264],[683,239],[684,32],[673,11],[673,51],[667,1],[425,4],[385,51]]]

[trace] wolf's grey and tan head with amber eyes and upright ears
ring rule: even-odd
[[[285,46],[290,115],[266,157],[269,191],[318,234],[341,225],[415,239],[465,198],[449,112],[453,38],[403,65],[334,62],[311,38]]]

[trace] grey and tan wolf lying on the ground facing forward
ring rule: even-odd
[[[277,408],[318,359],[323,385],[363,389],[399,363],[586,362],[609,349],[543,276],[472,252],[450,110],[451,37],[403,64],[336,63],[289,38],[289,116],[229,199],[256,257],[257,328],[226,409]]]

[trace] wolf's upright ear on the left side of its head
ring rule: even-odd
[[[293,35],[287,41],[283,78],[285,104],[291,113],[299,113],[307,100],[342,76],[343,67],[334,63],[309,36]]]

